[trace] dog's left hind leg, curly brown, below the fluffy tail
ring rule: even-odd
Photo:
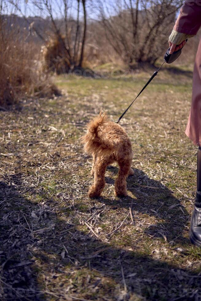
[[[89,187],[88,196],[89,197],[99,197],[105,186],[105,171],[109,164],[113,160],[110,157],[106,158],[96,158],[94,164],[94,183]]]

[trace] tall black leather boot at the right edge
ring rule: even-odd
[[[201,248],[201,147],[198,149],[197,192],[194,210],[191,217],[189,238],[193,244]]]

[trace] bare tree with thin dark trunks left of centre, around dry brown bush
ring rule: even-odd
[[[26,18],[21,0],[9,2]],[[87,30],[86,0],[31,0],[26,2],[26,7],[50,21],[49,29],[43,33],[37,32],[33,25],[46,45],[45,58],[50,67],[55,67],[57,73],[82,67]],[[77,18],[74,17],[76,12]],[[26,20],[29,22],[28,18]]]

